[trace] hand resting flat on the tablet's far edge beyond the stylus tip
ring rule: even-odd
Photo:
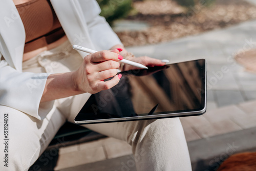
[[[134,62],[137,62],[137,63],[141,63],[142,65],[144,65],[146,67],[155,67],[155,66],[161,67],[161,66],[165,65],[165,62],[162,62],[159,59],[151,58],[151,57],[148,57],[148,56],[127,57],[125,59],[131,60],[131,61],[134,61]],[[131,65],[127,65],[127,64],[125,64],[123,66],[123,71],[135,70],[135,69],[140,69],[140,68],[134,67],[134,66],[131,66]]]

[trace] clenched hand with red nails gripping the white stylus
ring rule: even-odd
[[[116,49],[99,51],[84,57],[82,65],[72,75],[77,91],[93,94],[114,87],[122,76],[117,75],[120,67],[118,61],[122,58]],[[103,81],[113,76],[111,80]]]

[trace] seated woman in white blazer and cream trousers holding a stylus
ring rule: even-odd
[[[27,170],[59,127],[67,119],[73,122],[91,93],[119,82],[123,57],[146,66],[165,64],[127,53],[99,13],[93,0],[0,3],[0,117],[9,124],[0,128],[8,133],[3,137],[8,150],[1,156],[9,157],[1,170]],[[74,44],[100,52],[78,53],[71,48]],[[191,170],[178,118],[86,127],[131,144],[137,170]]]

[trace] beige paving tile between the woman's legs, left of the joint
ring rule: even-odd
[[[54,170],[105,160],[103,147],[88,148],[78,152],[59,155]]]

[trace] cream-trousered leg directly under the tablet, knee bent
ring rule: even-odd
[[[74,97],[68,120],[87,101]],[[100,134],[126,141],[132,146],[137,170],[191,170],[183,128],[179,118],[152,119],[83,125]]]

